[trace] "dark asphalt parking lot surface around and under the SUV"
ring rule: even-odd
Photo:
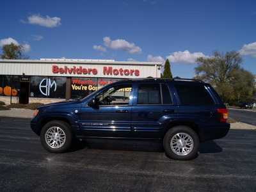
[[[0,191],[255,191],[256,131],[230,130],[191,161],[157,141],[86,140],[51,154],[29,119],[0,117]]]

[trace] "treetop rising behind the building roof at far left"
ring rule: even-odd
[[[24,49],[22,45],[15,45],[13,43],[3,45],[3,53],[1,55],[2,60],[27,60],[29,56],[23,54]]]

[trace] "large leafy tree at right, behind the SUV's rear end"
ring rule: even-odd
[[[224,102],[237,103],[252,97],[255,76],[240,67],[239,52],[214,51],[211,58],[197,58],[196,62],[195,78],[212,84]]]

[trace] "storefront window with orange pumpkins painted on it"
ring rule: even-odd
[[[0,76],[0,95],[19,97],[19,76]]]

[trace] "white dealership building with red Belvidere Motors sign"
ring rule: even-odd
[[[85,97],[119,79],[160,76],[160,62],[0,60],[0,100],[46,104]]]

